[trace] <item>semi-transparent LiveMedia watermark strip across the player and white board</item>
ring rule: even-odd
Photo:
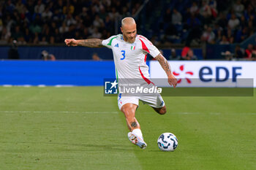
[[[104,96],[253,96],[253,79],[227,79],[203,82],[200,79],[179,79],[176,88],[167,79],[105,79]]]

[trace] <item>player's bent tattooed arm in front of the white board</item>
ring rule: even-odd
[[[162,56],[161,53],[159,53],[159,55],[157,55],[157,57],[155,57],[155,59],[157,61],[159,61],[160,65],[162,66],[162,69],[165,70],[165,73],[167,74],[168,77],[168,83],[170,85],[173,85],[174,88],[176,88],[177,85],[177,79],[176,77],[174,77],[174,75],[172,74],[171,70],[170,70],[170,64],[168,63],[168,61],[165,59],[164,56]]]

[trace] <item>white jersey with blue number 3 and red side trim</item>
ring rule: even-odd
[[[118,34],[103,40],[102,45],[113,51],[117,79],[143,79],[150,83],[146,56],[149,53],[155,58],[160,52],[146,37],[137,35],[135,42],[129,43]]]

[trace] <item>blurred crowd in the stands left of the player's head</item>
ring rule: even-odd
[[[108,38],[120,18],[132,15],[141,1],[7,0],[0,1],[0,44],[48,45],[65,38]]]

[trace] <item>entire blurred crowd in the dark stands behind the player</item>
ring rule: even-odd
[[[0,44],[17,40],[18,44],[52,45],[65,38],[106,39],[119,31],[120,19],[135,15],[143,2],[0,1]],[[255,4],[251,0],[151,0],[145,6],[146,13],[137,18],[138,31],[155,45],[239,43],[255,33]]]

